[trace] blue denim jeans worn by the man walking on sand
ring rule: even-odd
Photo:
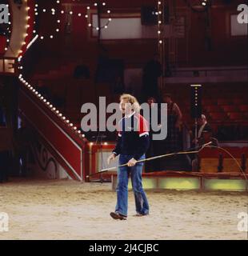
[[[121,154],[119,158],[119,165],[127,163],[133,155]],[[145,155],[138,160],[144,159]],[[149,204],[146,198],[146,193],[142,188],[142,169],[143,162],[138,162],[135,166],[128,167],[122,166],[118,168],[118,185],[117,192],[117,204],[115,211],[119,214],[127,216],[128,205],[128,179],[131,177],[132,187],[134,191],[134,199],[137,214],[149,214]]]

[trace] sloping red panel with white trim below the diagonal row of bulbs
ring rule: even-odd
[[[24,88],[25,89],[25,88]],[[83,173],[83,159],[85,142],[77,142],[68,133],[65,127],[57,120],[56,115],[50,111],[47,113],[46,106],[42,107],[41,102],[34,95],[26,90],[20,90],[19,110],[28,122],[41,134],[52,150],[58,154],[64,162],[66,171],[71,178],[82,181],[85,178]],[[54,115],[54,118],[53,118]]]

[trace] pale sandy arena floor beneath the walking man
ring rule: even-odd
[[[110,183],[14,181],[0,184],[0,212],[10,217],[0,239],[247,239],[237,229],[248,194],[148,191],[150,215],[110,218],[116,195]]]

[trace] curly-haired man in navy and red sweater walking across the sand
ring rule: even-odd
[[[138,162],[145,158],[149,147],[149,128],[146,119],[139,114],[140,106],[134,96],[122,94],[120,109],[124,117],[118,123],[118,142],[108,158],[108,163],[119,154],[119,165],[127,164],[118,168],[117,204],[115,211],[110,213],[112,218],[122,220],[127,217],[129,176],[137,216],[149,214],[149,204],[142,188],[143,162]]]

